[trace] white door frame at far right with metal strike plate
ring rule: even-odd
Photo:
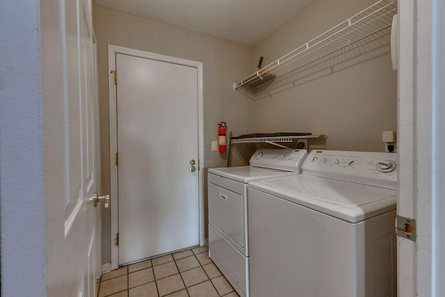
[[[397,213],[416,220],[398,237],[399,296],[443,296],[445,284],[445,5],[398,1]]]

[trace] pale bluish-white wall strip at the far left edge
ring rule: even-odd
[[[46,296],[40,1],[0,2],[1,296]]]

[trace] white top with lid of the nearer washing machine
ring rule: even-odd
[[[252,182],[249,186],[350,223],[396,209],[395,190],[325,177],[292,175]]]

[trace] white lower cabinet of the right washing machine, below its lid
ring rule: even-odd
[[[248,213],[250,296],[396,296],[395,211],[351,224],[248,188]]]

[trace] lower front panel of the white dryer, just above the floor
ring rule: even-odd
[[[241,255],[209,225],[209,257],[241,297],[249,297],[249,258]]]

